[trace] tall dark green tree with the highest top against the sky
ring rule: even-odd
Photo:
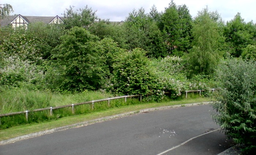
[[[172,0],[165,8],[159,29],[166,37],[169,53],[182,56],[191,48],[192,16],[186,5],[176,5]]]

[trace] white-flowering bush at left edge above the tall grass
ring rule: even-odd
[[[4,66],[0,68],[0,84],[9,87],[41,88],[44,73],[28,60],[18,56],[4,58]]]

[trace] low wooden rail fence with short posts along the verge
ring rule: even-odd
[[[219,90],[219,89],[211,89],[212,92],[214,92],[215,90]],[[188,97],[188,92],[199,92],[199,94],[201,96],[202,91],[205,91],[205,90],[188,90],[188,91],[185,91],[186,92],[186,98]],[[166,94],[167,93],[168,92],[166,92]],[[94,101],[74,103],[74,104],[71,104],[71,105],[64,105],[64,106],[57,106],[57,107],[46,107],[46,108],[41,108],[41,109],[34,109],[34,110],[26,110],[26,111],[18,111],[18,112],[13,112],[13,113],[0,114],[0,125],[1,125],[1,117],[4,117],[4,116],[12,116],[12,115],[16,115],[16,114],[24,114],[25,113],[26,114],[26,120],[28,121],[29,112],[50,110],[50,115],[52,115],[52,110],[53,109],[71,107],[72,113],[74,113],[74,106],[77,106],[77,105],[84,105],[84,104],[90,104],[91,103],[91,107],[93,109],[95,102],[108,101],[108,106],[110,106],[110,100],[124,98],[124,101],[127,102],[127,98],[132,98],[132,97],[140,97],[140,101],[142,101],[142,95],[125,95],[125,96],[121,96],[121,97],[112,97],[112,98],[106,98],[106,99],[98,99],[98,100],[94,100]]]

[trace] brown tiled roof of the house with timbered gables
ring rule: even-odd
[[[53,19],[59,16],[21,16],[23,19],[25,19],[28,23],[36,23],[36,22],[43,22],[46,24],[49,24],[52,22]],[[16,19],[18,16],[4,16],[3,18],[0,18],[0,26],[8,26],[14,19]],[[59,17],[64,18],[64,17]]]

